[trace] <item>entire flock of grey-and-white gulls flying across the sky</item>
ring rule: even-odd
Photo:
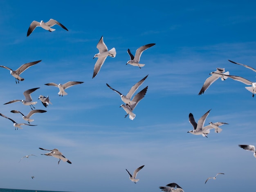
[[[68,29],[62,25],[60,22],[54,20],[54,19],[50,19],[48,22],[37,22],[37,21],[33,21],[31,22],[29,29],[27,31],[27,37],[34,31],[34,29],[36,29],[36,27],[42,27],[43,29],[47,30],[47,31],[55,31],[56,29],[52,29],[51,27],[53,27],[54,25],[59,25],[60,27],[62,27],[63,29],[67,30]],[[155,43],[150,43],[144,46],[139,47],[136,50],[135,56],[133,56],[130,52],[130,49],[127,50],[129,56],[130,56],[130,60],[126,63],[130,64],[132,66],[137,66],[139,68],[143,67],[145,64],[141,64],[139,63],[141,54],[143,53],[143,51],[145,51],[146,49],[154,46]],[[94,65],[94,71],[93,71],[93,76],[92,78],[95,78],[95,76],[99,73],[103,63],[105,62],[106,58],[108,56],[115,58],[116,56],[116,49],[115,47],[113,47],[112,49],[108,50],[108,47],[106,46],[106,44],[103,42],[103,36],[100,38],[98,44],[97,44],[97,49],[99,49],[99,53],[95,54],[93,58],[98,58],[95,65]],[[234,61],[229,60],[231,63],[237,64],[237,65],[242,65],[244,67],[247,67],[253,71],[256,72],[256,69],[249,67],[247,65],[241,64],[241,63],[236,63]],[[34,62],[30,62],[30,63],[25,63],[23,65],[21,65],[18,69],[16,70],[12,70],[9,67],[6,66],[0,66],[2,68],[8,69],[10,71],[10,74],[15,78],[16,80],[16,84],[20,83],[19,81],[23,81],[24,78],[20,77],[20,75],[22,74],[22,72],[24,72],[26,69],[28,69],[29,67],[36,65],[38,63],[40,63],[41,60],[38,61],[34,61]],[[244,83],[245,85],[250,85],[249,87],[245,87],[249,92],[252,92],[252,96],[254,97],[254,94],[256,93],[256,83],[249,81],[243,77],[240,76],[232,76],[229,75],[229,71],[225,72],[224,68],[217,68],[216,71],[213,71],[210,73],[210,77],[207,78],[207,80],[205,80],[204,85],[202,86],[202,89],[200,90],[198,95],[204,94],[204,92],[210,87],[210,85],[212,83],[214,83],[218,78],[220,78],[222,81],[226,80],[227,78],[231,78],[234,79],[236,81],[240,81],[241,83]],[[139,82],[135,83],[135,85],[133,85],[129,92],[124,95],[121,94],[119,91],[117,91],[116,89],[110,87],[110,85],[108,85],[108,83],[106,83],[106,85],[112,89],[114,92],[116,92],[117,94],[119,94],[119,96],[121,97],[121,100],[124,102],[124,104],[122,104],[120,107],[122,107],[125,112],[126,112],[126,116],[129,115],[129,118],[131,120],[133,120],[135,118],[135,114],[133,113],[133,110],[135,109],[135,107],[137,106],[137,104],[139,103],[139,101],[144,98],[144,96],[146,95],[148,86],[146,86],[144,89],[142,89],[139,93],[137,93],[133,98],[132,96],[135,94],[135,92],[137,91],[137,89],[139,88],[139,86],[144,83],[144,81],[146,80],[146,78],[148,77],[145,76],[144,78],[142,78],[141,80],[139,80]],[[65,96],[67,95],[67,93],[65,92],[65,89],[72,87],[74,85],[79,85],[81,83],[81,81],[69,81],[65,84],[56,84],[56,83],[46,83],[45,85],[48,86],[54,86],[54,87],[58,87],[59,92],[58,95],[59,96]],[[27,123],[16,123],[16,121],[14,121],[13,119],[5,116],[4,114],[0,113],[0,116],[9,119],[10,121],[13,122],[13,126],[15,127],[15,130],[18,128],[22,129],[21,125],[29,125],[29,126],[36,126],[36,125],[31,125],[30,122],[33,122],[34,120],[31,119],[31,116],[36,114],[36,113],[45,113],[47,111],[45,110],[41,110],[41,109],[35,109],[34,105],[36,105],[36,101],[33,101],[31,98],[31,94],[36,91],[37,89],[39,89],[39,87],[33,88],[33,89],[28,89],[25,92],[23,92],[23,95],[25,96],[25,100],[11,100],[7,103],[4,103],[4,105],[10,104],[10,103],[15,103],[15,102],[21,102],[23,105],[29,105],[31,108],[31,111],[27,114],[24,115],[22,114],[22,112],[18,111],[18,110],[11,110],[12,113],[20,113],[22,115],[22,119],[24,121],[27,121]],[[45,97],[43,95],[40,95],[38,97],[38,99],[40,99],[40,101],[42,102],[42,104],[44,105],[44,107],[48,107],[49,104],[52,104],[49,100],[49,97]],[[211,109],[209,111],[207,111],[199,120],[198,123],[195,122],[195,119],[193,117],[193,114],[190,113],[189,114],[189,122],[191,123],[191,125],[193,126],[193,130],[189,131],[188,133],[194,134],[194,135],[202,135],[204,137],[207,137],[207,135],[210,133],[211,129],[214,129],[216,133],[220,133],[222,131],[222,129],[220,128],[220,126],[222,125],[227,125],[228,123],[223,123],[223,122],[216,122],[216,123],[212,123],[209,122],[209,125],[204,126],[204,123],[206,121],[207,116],[209,115],[209,112],[211,111]],[[254,152],[254,156],[256,157],[256,150],[255,150],[255,146],[254,145],[238,145],[239,147],[243,148],[244,150],[248,150],[248,151],[252,151]],[[46,155],[46,156],[53,156],[57,159],[59,159],[58,164],[60,163],[60,161],[64,161],[67,163],[71,164],[71,161],[69,161],[67,158],[65,158],[65,156],[63,156],[63,154],[58,150],[58,149],[53,149],[53,150],[47,150],[44,148],[39,147],[40,150],[46,150],[49,151],[48,153],[45,154],[41,154],[41,155]],[[23,156],[20,161],[23,158],[29,158],[29,156],[36,156],[34,154],[30,154],[30,155],[26,155]],[[19,163],[20,163],[19,161]],[[129,179],[134,182],[137,183],[139,181],[139,179],[137,179],[137,173],[144,167],[144,165],[142,165],[141,167],[138,167],[133,174],[130,174],[130,172],[126,169],[127,173],[129,174]],[[216,176],[218,176],[219,174],[224,174],[224,173],[218,173],[216,174]],[[214,177],[209,177],[207,178],[207,180],[205,181],[205,183],[207,183],[207,181],[209,179],[216,179],[216,176]],[[32,179],[34,179],[34,176],[31,176]],[[165,192],[171,192],[171,191],[176,191],[176,192],[184,192],[184,190],[177,184],[177,183],[169,183],[164,187],[159,187],[162,191]]]

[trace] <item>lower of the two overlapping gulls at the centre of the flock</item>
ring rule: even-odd
[[[144,98],[144,96],[146,95],[146,92],[148,90],[148,86],[145,87],[144,89],[142,89],[139,93],[137,93],[134,98],[132,99],[132,102],[134,101],[135,103],[132,105],[124,105],[122,104],[120,107],[123,107],[123,109],[126,111],[126,116],[124,116],[125,118],[129,115],[129,118],[131,120],[133,120],[135,118],[135,114],[132,112],[134,110],[134,108],[137,106],[137,104],[139,103],[139,101],[141,99]]]

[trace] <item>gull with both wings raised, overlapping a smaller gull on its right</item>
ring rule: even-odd
[[[202,136],[206,136],[207,134],[210,133],[209,129],[203,129],[204,127],[204,122],[205,119],[207,118],[207,116],[209,115],[211,109],[206,112],[199,120],[198,123],[195,122],[194,116],[192,113],[189,114],[189,122],[191,123],[191,125],[194,127],[193,130],[189,131],[188,133],[194,134],[194,135],[200,135],[202,134]]]

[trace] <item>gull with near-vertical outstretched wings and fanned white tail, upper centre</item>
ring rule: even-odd
[[[94,65],[94,71],[93,71],[92,78],[94,78],[99,73],[99,70],[101,69],[101,66],[105,62],[107,56],[110,56],[110,57],[114,58],[116,56],[116,54],[117,54],[115,47],[113,47],[112,49],[110,49],[108,51],[108,47],[103,42],[103,36],[101,36],[101,39],[99,40],[99,42],[97,44],[97,49],[99,49],[99,53],[94,55],[93,58],[97,57],[98,60],[97,60],[97,62]]]

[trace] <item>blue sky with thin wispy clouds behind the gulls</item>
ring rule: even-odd
[[[36,127],[14,130],[12,122],[0,117],[0,188],[56,191],[161,191],[158,187],[178,183],[184,191],[238,191],[255,188],[255,161],[252,152],[238,145],[256,145],[256,98],[243,83],[217,80],[198,93],[217,67],[231,75],[254,81],[254,71],[232,64],[234,60],[256,67],[256,3],[251,1],[0,1],[1,63],[17,69],[24,63],[42,62],[22,73],[16,85],[9,70],[0,69],[2,104],[31,94],[49,96],[53,105],[32,116]],[[61,22],[69,31],[54,26],[50,33],[36,28],[29,37],[33,20]],[[103,36],[115,58],[108,57],[92,79]],[[127,49],[156,43],[141,56],[139,69],[125,65]],[[136,118],[124,118],[118,94],[148,75],[138,91],[148,92],[134,110]],[[83,81],[59,97],[58,89],[45,83]],[[208,138],[187,133],[209,109],[206,124],[227,122],[219,134]],[[18,123],[26,123],[20,102],[2,105],[0,113]],[[32,123],[31,123],[32,124]],[[41,156],[38,149],[58,148],[72,164]],[[34,154],[28,159],[22,156]],[[18,163],[20,161],[20,163]],[[138,173],[135,185],[125,169]],[[214,180],[205,180],[216,173]],[[35,178],[32,180],[31,175]]]

